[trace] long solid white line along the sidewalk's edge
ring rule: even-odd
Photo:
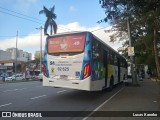
[[[98,106],[96,109],[93,110],[93,112],[91,112],[87,117],[83,118],[82,120],[87,120],[92,114],[94,114],[94,112],[98,111],[102,106],[104,106],[106,103],[108,103],[113,97],[115,97],[119,92],[121,92],[124,89],[121,88],[118,92],[116,92],[114,95],[112,95],[109,99],[107,99],[106,101],[104,101],[100,106]]]

